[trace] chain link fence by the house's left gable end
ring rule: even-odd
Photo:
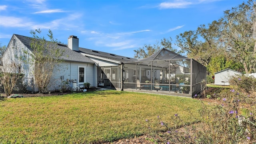
[[[0,93],[4,93],[4,85],[0,80]],[[33,78],[19,78],[12,90],[12,94],[31,94],[34,93]]]

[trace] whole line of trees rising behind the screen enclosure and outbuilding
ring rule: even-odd
[[[256,2],[248,0],[224,11],[224,16],[196,30],[185,31],[172,38],[163,38],[154,45],[144,44],[134,50],[134,58],[146,58],[161,48],[193,58],[206,66],[208,75],[230,68],[242,73],[256,72]]]

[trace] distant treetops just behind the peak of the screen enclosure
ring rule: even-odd
[[[156,44],[153,44],[153,46],[150,44],[144,44],[142,48],[134,50],[134,58],[147,58],[162,48],[166,48],[172,52],[177,52],[176,49],[172,48],[172,38],[170,37],[170,39],[163,38],[160,44],[156,41]]]

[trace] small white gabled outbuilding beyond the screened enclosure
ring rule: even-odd
[[[229,68],[216,72],[214,73],[214,84],[229,86],[229,79],[235,75],[242,75],[242,73]]]

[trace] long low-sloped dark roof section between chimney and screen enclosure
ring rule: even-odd
[[[93,56],[98,56],[98,57],[101,57],[101,58],[108,58],[110,60],[116,60],[116,61],[119,61],[119,62],[135,62],[135,61],[137,61],[136,58],[129,58],[129,57],[126,57],[126,56],[119,56],[119,55],[116,55],[116,54],[111,54],[111,53],[107,53],[107,52],[100,52],[98,50],[90,50],[90,49],[87,49],[87,48],[79,48],[79,52],[82,52],[82,53],[85,53],[85,54],[90,54],[90,55],[93,55]]]

